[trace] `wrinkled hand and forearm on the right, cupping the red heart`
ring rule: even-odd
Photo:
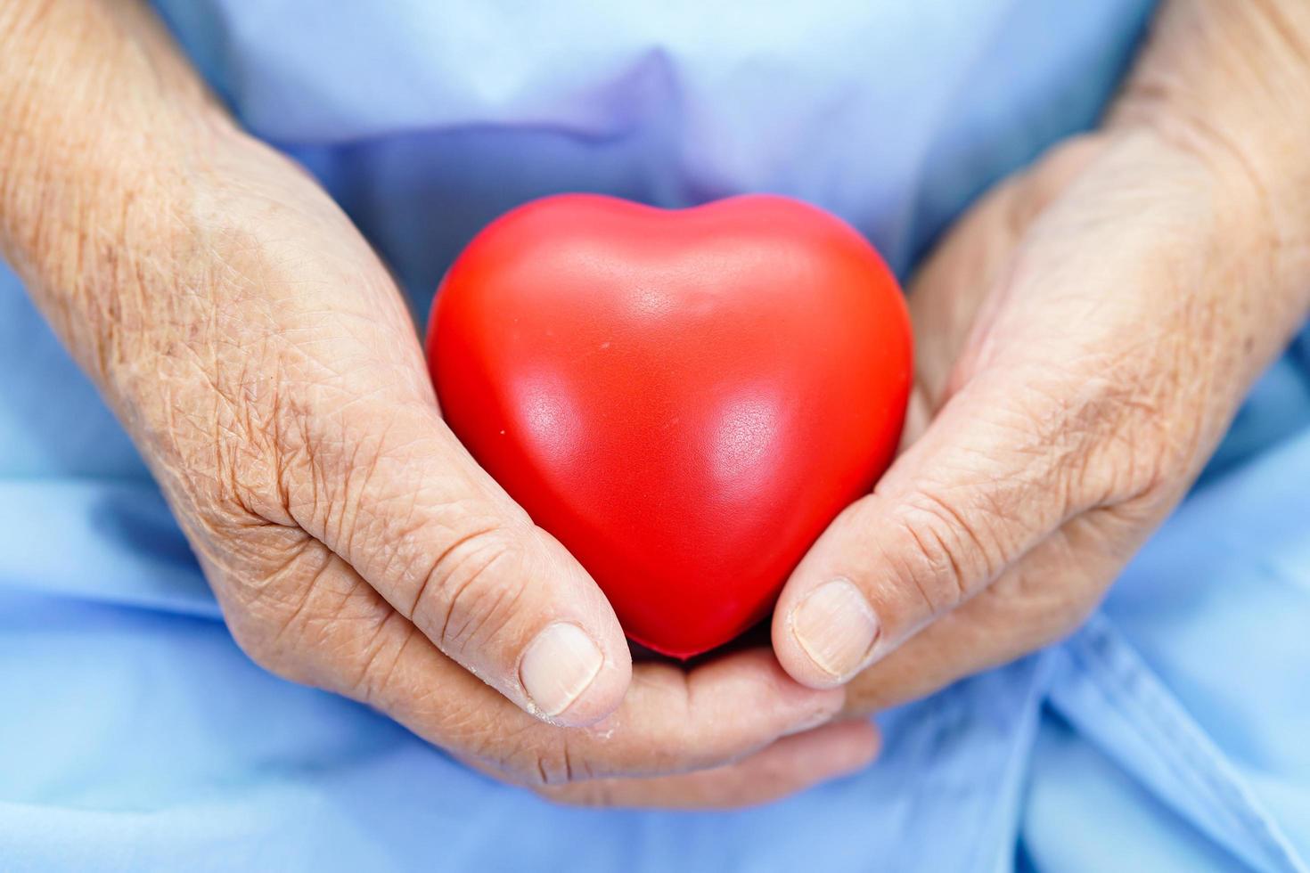
[[[790,580],[789,673],[870,711],[1079,623],[1305,319],[1307,192],[1310,5],[1175,0],[918,275],[907,448]]]

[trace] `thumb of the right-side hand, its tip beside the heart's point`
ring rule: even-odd
[[[1083,449],[1051,441],[1058,424],[1038,424],[1053,420],[1039,408],[1049,391],[1001,381],[979,378],[956,394],[793,572],[773,645],[798,682],[846,682],[1070,516],[1068,471]]]

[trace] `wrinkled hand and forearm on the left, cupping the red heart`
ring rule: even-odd
[[[148,13],[9,3],[0,34],[3,250],[252,657],[575,800],[638,775],[627,802],[752,802],[869,760],[867,725],[815,729],[844,692],[768,652],[631,668],[595,582],[443,424],[369,246]]]

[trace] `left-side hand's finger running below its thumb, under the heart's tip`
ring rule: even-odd
[[[769,652],[756,649],[690,671],[639,665],[617,712],[588,728],[558,728],[521,712],[443,654],[326,548],[305,550],[282,572],[312,582],[296,586],[304,599],[293,610],[272,610],[276,632],[258,601],[224,603],[257,661],[373,705],[430,742],[528,785],[722,766],[831,720],[845,700],[844,690],[796,683]]]

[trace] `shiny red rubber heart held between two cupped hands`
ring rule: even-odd
[[[631,639],[677,657],[768,613],[891,463],[910,385],[909,317],[878,254],[764,195],[514,209],[451,267],[427,351],[478,463]]]

